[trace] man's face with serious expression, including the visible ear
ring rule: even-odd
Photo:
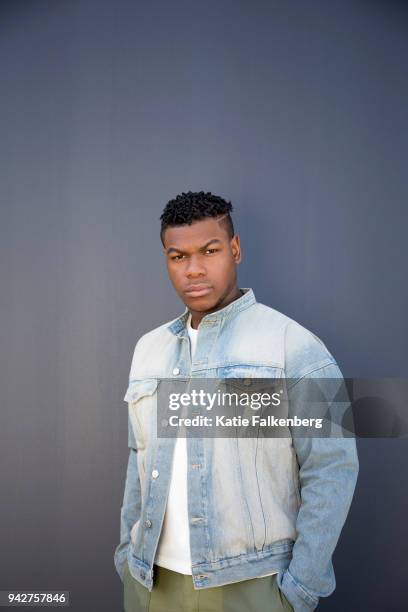
[[[194,323],[240,296],[239,236],[230,239],[217,218],[168,227],[163,240],[169,278]]]

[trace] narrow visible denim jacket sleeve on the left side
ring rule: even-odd
[[[130,544],[130,531],[141,514],[141,490],[139,470],[137,467],[137,446],[132,424],[128,415],[129,459],[126,470],[125,491],[120,511],[120,542],[115,549],[114,563],[116,571],[123,581],[124,569]]]

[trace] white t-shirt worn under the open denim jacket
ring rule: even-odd
[[[191,360],[193,360],[197,346],[198,329],[191,327],[191,313],[187,319],[187,331],[190,338]],[[175,442],[166,512],[154,560],[157,565],[180,574],[192,573],[187,505],[186,441],[185,437],[177,437]],[[272,574],[277,574],[277,572],[262,574],[259,578]]]

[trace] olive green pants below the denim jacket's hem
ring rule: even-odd
[[[149,591],[126,564],[123,583],[125,612],[293,612],[276,574],[194,589],[191,576],[155,565]]]

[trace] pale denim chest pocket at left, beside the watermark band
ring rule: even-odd
[[[138,452],[143,452],[156,432],[157,378],[131,380],[124,397]]]

